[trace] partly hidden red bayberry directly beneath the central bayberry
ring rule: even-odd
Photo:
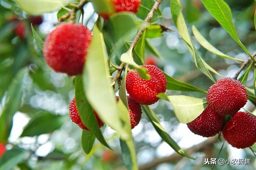
[[[118,96],[116,96],[116,102],[119,101]],[[130,115],[130,121],[131,121],[131,127],[132,129],[137,126],[140,123],[142,111],[140,108],[140,104],[137,102],[134,102],[132,98],[127,96],[127,101],[128,101],[128,108],[129,108],[129,115]]]

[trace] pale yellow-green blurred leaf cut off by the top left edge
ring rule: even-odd
[[[71,0],[15,0],[22,10],[28,14],[41,15],[53,12],[62,6],[66,6]]]

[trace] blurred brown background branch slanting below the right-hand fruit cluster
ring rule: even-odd
[[[190,147],[189,149],[186,149],[185,152],[188,154],[191,154],[193,152],[196,152],[196,151],[199,151],[202,149],[208,149],[216,141],[217,141],[217,137],[211,137],[211,138],[207,139],[206,141],[199,143],[198,145],[195,145],[193,147]],[[180,158],[182,158],[182,156],[178,153],[174,153],[174,154],[172,154],[170,156],[166,156],[164,158],[155,158],[151,162],[140,165],[139,170],[150,170],[151,168],[158,166],[159,164],[162,164],[165,162],[174,162]]]

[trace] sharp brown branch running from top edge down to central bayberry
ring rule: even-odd
[[[154,12],[156,12],[156,10],[158,9],[159,5],[161,4],[162,0],[157,0],[154,4],[154,6],[152,7],[152,9],[150,10],[150,12],[148,13],[148,16],[145,18],[144,23],[142,24],[142,27],[140,28],[140,30],[138,31],[138,34],[136,35],[136,37],[134,38],[134,40],[132,41],[132,44],[130,46],[130,48],[128,49],[128,51],[133,50],[134,47],[136,46],[136,44],[138,43],[140,37],[142,36],[143,31],[148,27],[148,22],[152,19]],[[114,84],[116,83],[116,80],[120,77],[120,75],[122,74],[122,71],[124,69],[124,67],[126,66],[126,63],[122,62],[119,66],[119,70],[116,73],[116,76],[114,76],[113,82],[112,82],[112,86],[114,86]]]

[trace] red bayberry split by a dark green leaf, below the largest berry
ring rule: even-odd
[[[95,113],[94,114],[96,116],[97,122],[99,127],[102,127],[104,125],[104,123],[100,120],[100,118],[98,117],[98,115]],[[72,120],[72,122],[76,123],[81,129],[84,129],[86,131],[88,131],[89,129],[84,125],[84,123],[82,122],[80,115],[78,114],[78,110],[76,107],[76,100],[75,98],[73,98],[73,100],[70,102],[69,104],[69,115],[70,118]]]

